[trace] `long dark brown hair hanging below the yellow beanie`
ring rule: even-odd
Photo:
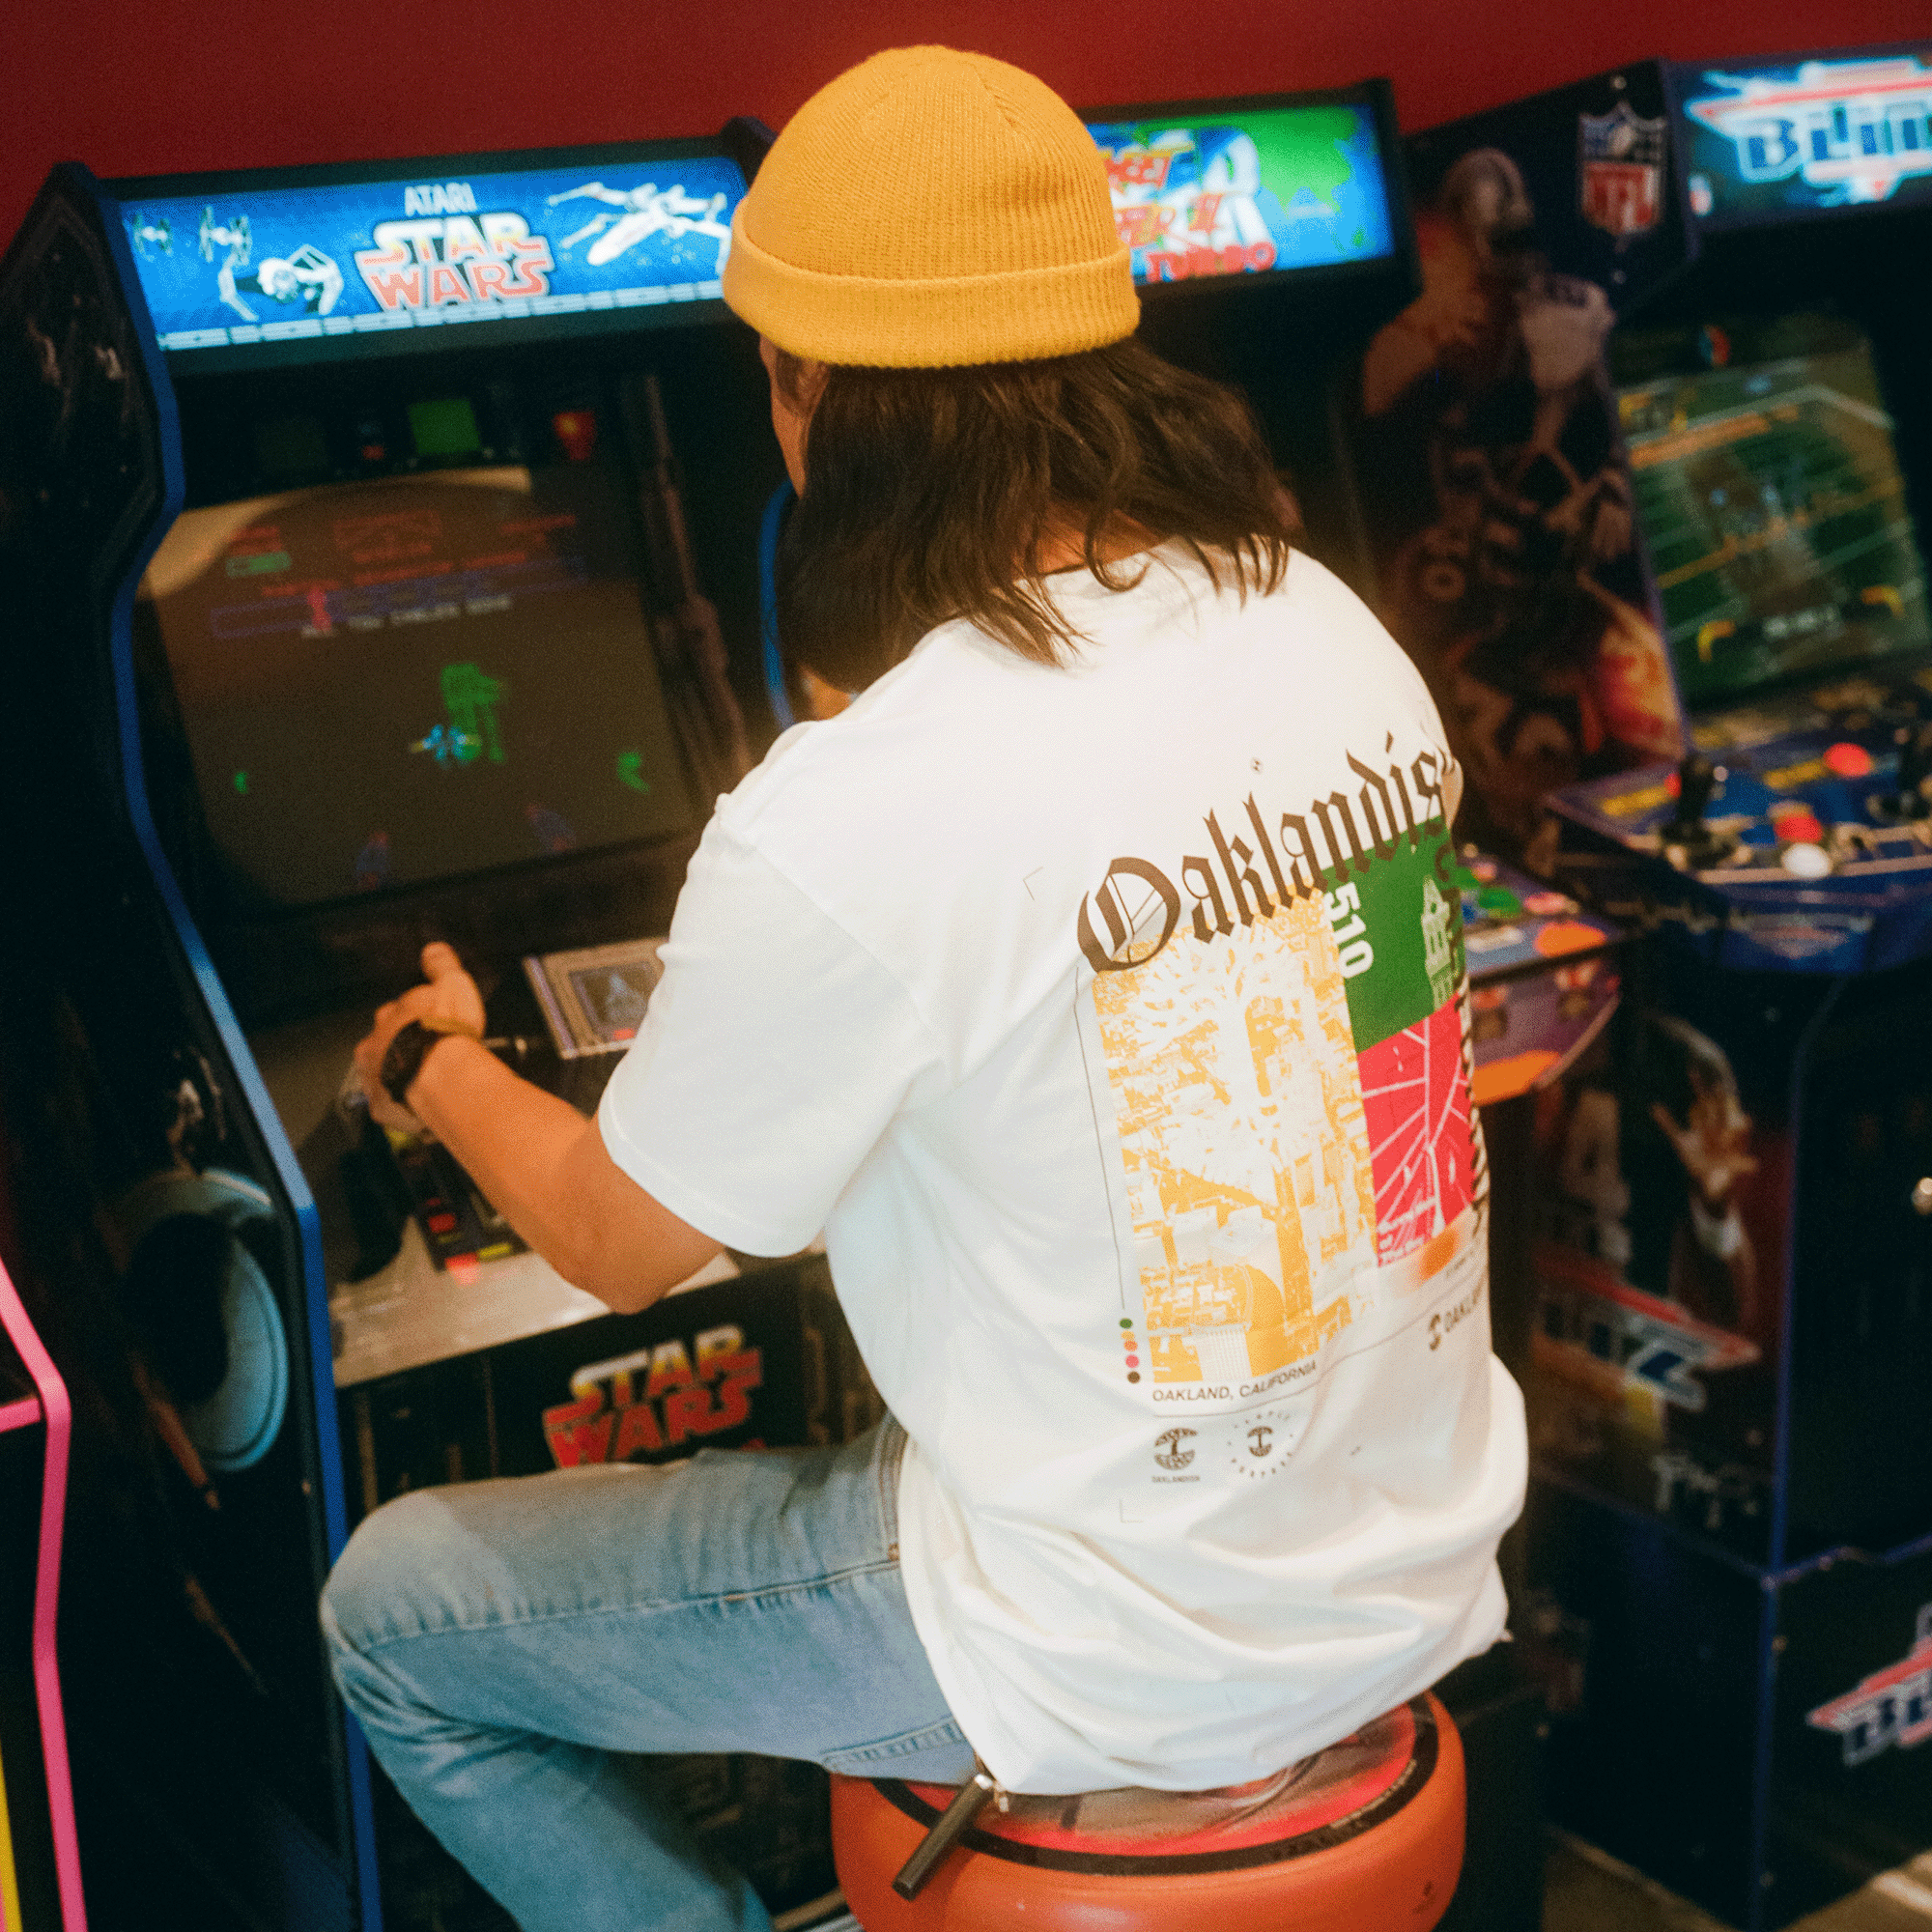
[[[1130,589],[1146,560],[1107,560],[1122,529],[1182,543],[1215,587],[1271,591],[1293,506],[1248,404],[1128,338],[1051,361],[976,369],[808,365],[777,383],[810,410],[806,491],[779,551],[786,653],[862,690],[925,632],[970,618],[1034,663],[1074,632],[1041,589],[1055,535]]]

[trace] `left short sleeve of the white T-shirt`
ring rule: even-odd
[[[611,1159],[748,1254],[792,1254],[941,1055],[912,997],[721,817],[597,1113]]]

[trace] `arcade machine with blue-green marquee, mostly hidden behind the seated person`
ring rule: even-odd
[[[1159,292],[1142,336],[1246,392],[1300,510],[1302,547],[1374,603],[1379,504],[1356,475],[1358,410],[1343,371],[1366,340],[1385,340],[1383,325],[1414,313],[1385,91],[1103,108],[1088,122],[1134,272]],[[1609,1020],[1617,933],[1482,850],[1453,885],[1474,987],[1476,1099],[1495,1107],[1557,1078]]]

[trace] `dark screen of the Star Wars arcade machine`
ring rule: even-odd
[[[601,468],[187,510],[143,597],[243,902],[313,906],[697,823]]]

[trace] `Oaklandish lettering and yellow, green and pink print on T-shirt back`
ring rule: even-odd
[[[1443,755],[1389,734],[1347,769],[1302,811],[1209,811],[1171,869],[1117,858],[1080,910],[1124,1316],[1169,1412],[1302,1383],[1476,1258]]]

